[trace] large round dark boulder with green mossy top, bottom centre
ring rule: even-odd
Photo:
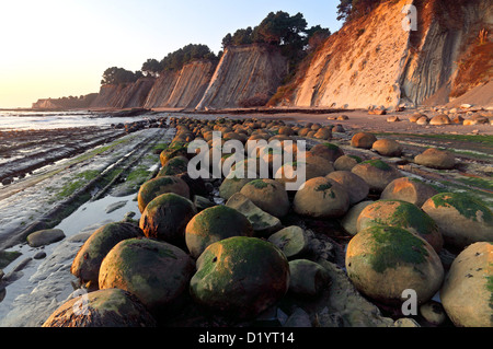
[[[234,236],[208,246],[197,259],[192,298],[211,312],[253,318],[288,290],[289,265],[275,245]]]

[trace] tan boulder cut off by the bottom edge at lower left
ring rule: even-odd
[[[85,313],[87,311],[87,313]],[[43,327],[156,327],[140,301],[121,289],[105,289],[60,305]]]

